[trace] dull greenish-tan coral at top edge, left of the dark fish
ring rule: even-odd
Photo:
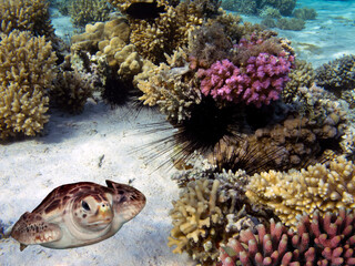
[[[112,8],[105,0],[72,0],[69,6],[69,14],[74,27],[106,21],[111,11]]]

